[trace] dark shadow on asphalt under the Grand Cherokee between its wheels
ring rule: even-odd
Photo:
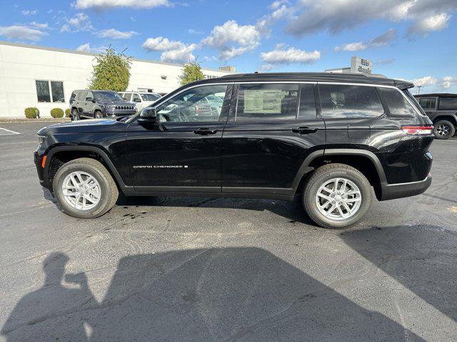
[[[206,207],[222,209],[243,209],[258,212],[268,211],[285,217],[291,223],[299,222],[312,227],[319,227],[306,214],[301,199],[296,196],[293,202],[276,199],[248,198],[211,198],[211,197],[127,197],[119,195],[116,202],[119,207]],[[320,227],[319,227],[320,228]]]

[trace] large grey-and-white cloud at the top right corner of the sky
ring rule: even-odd
[[[446,26],[456,0],[301,0],[288,24],[295,36],[328,30],[338,33],[375,19],[413,21],[411,33],[438,31]]]

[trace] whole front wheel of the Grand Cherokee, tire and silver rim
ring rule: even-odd
[[[119,196],[108,170],[91,158],[62,165],[54,177],[53,190],[62,212],[84,219],[105,214]]]

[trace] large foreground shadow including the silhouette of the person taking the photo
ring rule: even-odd
[[[67,261],[46,258],[46,281],[16,304],[6,341],[423,341],[264,249],[123,257],[100,302],[84,274],[64,276]]]

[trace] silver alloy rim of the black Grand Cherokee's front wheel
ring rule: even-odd
[[[62,182],[65,201],[79,210],[94,208],[101,199],[101,187],[88,172],[76,171],[67,175]]]

